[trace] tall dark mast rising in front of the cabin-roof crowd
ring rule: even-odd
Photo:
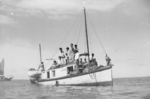
[[[85,9],[85,7],[84,7],[84,19],[85,19],[86,45],[87,45],[88,62],[89,62],[90,61],[90,58],[89,58],[89,41],[88,41],[88,31],[87,31],[86,9]]]

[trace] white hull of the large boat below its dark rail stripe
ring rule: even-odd
[[[42,74],[44,76],[44,73]],[[41,75],[41,76],[42,76]],[[60,86],[108,86],[113,84],[111,68],[95,71],[94,73],[83,73],[53,79],[39,79],[35,83],[40,85]]]

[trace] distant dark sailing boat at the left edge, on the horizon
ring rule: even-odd
[[[0,63],[0,81],[11,81],[13,76],[4,76],[4,59]]]

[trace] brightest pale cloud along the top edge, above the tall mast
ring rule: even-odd
[[[95,9],[107,11],[124,0],[87,0],[85,6]],[[55,9],[57,11],[66,11],[71,9],[80,9],[83,6],[83,0],[22,0],[20,7],[37,8],[37,9]]]

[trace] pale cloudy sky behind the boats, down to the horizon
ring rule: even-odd
[[[84,52],[83,6],[90,52],[98,64],[106,65],[106,52],[114,64],[114,78],[150,76],[149,0],[0,0],[5,75],[28,79],[28,69],[40,63],[39,43],[46,69],[51,65],[46,59],[56,59],[59,47],[74,43]]]

